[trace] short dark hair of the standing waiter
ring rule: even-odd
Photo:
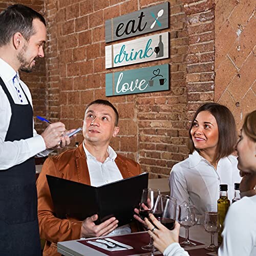
[[[19,32],[25,40],[36,33],[33,19],[39,19],[45,26],[45,18],[25,5],[11,5],[0,13],[0,47],[9,44],[15,33]]]

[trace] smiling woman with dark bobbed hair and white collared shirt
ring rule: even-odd
[[[201,221],[205,211],[217,211],[219,185],[228,184],[231,200],[234,183],[241,180],[237,157],[231,155],[236,142],[236,123],[226,106],[210,102],[197,110],[189,129],[190,155],[173,166],[169,187],[177,205],[195,205]]]

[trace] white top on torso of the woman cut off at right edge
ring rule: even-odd
[[[256,255],[256,196],[233,203],[227,212],[219,256]]]

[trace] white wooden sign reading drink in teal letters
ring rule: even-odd
[[[105,46],[106,69],[168,57],[168,32]]]

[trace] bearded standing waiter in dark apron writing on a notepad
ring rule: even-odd
[[[0,13],[0,255],[40,255],[34,156],[70,143],[65,125],[34,130],[32,100],[18,70],[44,57],[46,22],[23,5]],[[68,131],[69,132],[69,131]],[[64,135],[64,136],[63,136]]]

